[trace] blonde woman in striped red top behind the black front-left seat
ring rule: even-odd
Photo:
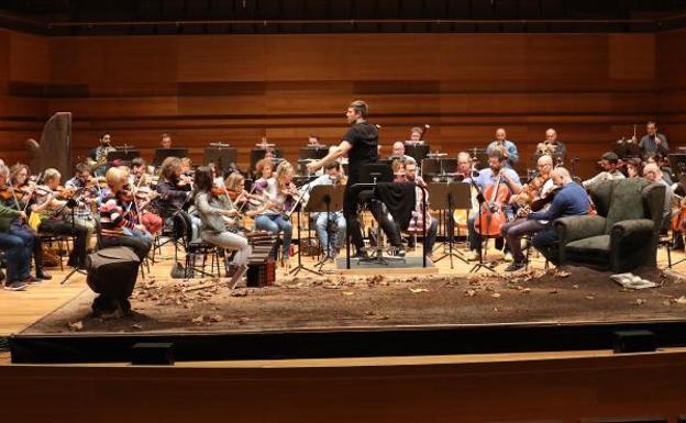
[[[111,167],[106,179],[110,193],[100,202],[100,248],[125,246],[142,261],[153,244],[151,237],[144,235],[147,234],[145,226],[135,223],[131,210],[124,204],[124,199],[132,197],[126,190],[129,171]]]

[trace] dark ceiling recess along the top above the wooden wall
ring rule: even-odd
[[[47,35],[659,32],[686,0],[3,0],[0,26]]]

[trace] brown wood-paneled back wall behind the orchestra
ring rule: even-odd
[[[109,130],[143,149],[159,134],[191,148],[223,141],[240,160],[266,135],[296,158],[309,133],[345,131],[355,99],[381,144],[430,123],[432,149],[484,147],[508,130],[523,166],[554,126],[580,174],[613,140],[657,119],[686,135],[686,32],[662,34],[319,34],[43,37],[0,31],[0,152],[25,159],[53,112],[75,118],[74,158]],[[681,90],[681,91],[679,91]]]

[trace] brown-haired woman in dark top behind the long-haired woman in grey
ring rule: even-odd
[[[167,157],[161,166],[162,180],[157,183],[157,192],[161,194],[159,215],[164,219],[165,225],[174,226],[174,216],[188,208],[188,202],[192,197],[191,186],[179,183],[181,177],[181,160],[178,157]],[[190,216],[192,241],[200,236],[200,219]]]

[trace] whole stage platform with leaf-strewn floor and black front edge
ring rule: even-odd
[[[124,319],[91,318],[95,294],[75,279],[66,303],[11,337],[12,360],[128,361],[137,342],[172,342],[178,360],[605,349],[620,329],[686,344],[679,274],[642,270],[660,287],[627,290],[609,272],[542,265],[475,275],[442,260],[438,274],[406,276],[328,265],[322,276],[278,270],[275,286],[231,291],[222,279],[170,279],[163,261],[139,279]]]

